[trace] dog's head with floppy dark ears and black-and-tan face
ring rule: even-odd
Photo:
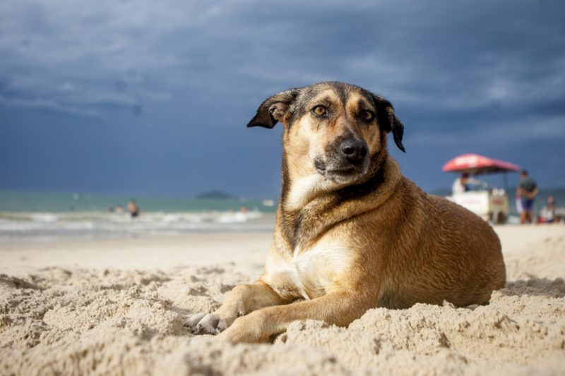
[[[366,176],[393,133],[400,150],[403,124],[388,100],[346,83],[317,83],[266,99],[248,127],[285,126],[285,153],[299,176],[319,174],[338,184]]]

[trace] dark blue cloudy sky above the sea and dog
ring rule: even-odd
[[[275,198],[282,127],[245,125],[323,80],[393,103],[406,153],[389,150],[424,190],[466,152],[565,186],[564,16],[560,0],[2,0],[0,190]]]

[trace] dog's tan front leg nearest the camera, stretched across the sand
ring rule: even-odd
[[[376,306],[376,298],[356,296],[346,292],[328,293],[311,301],[256,310],[239,317],[220,338],[231,342],[262,342],[273,334],[285,332],[295,320],[322,320],[328,324],[345,327]]]

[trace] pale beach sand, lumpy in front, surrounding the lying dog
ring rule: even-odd
[[[270,234],[0,244],[0,374],[565,375],[565,226],[496,231],[509,282],[489,305],[294,322],[259,345],[186,320],[258,277]]]

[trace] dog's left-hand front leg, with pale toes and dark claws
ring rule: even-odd
[[[236,286],[225,302],[213,313],[198,313],[192,316],[188,325],[194,334],[218,334],[230,327],[239,316],[247,315],[269,305],[290,303],[267,284],[257,281],[254,284]]]

